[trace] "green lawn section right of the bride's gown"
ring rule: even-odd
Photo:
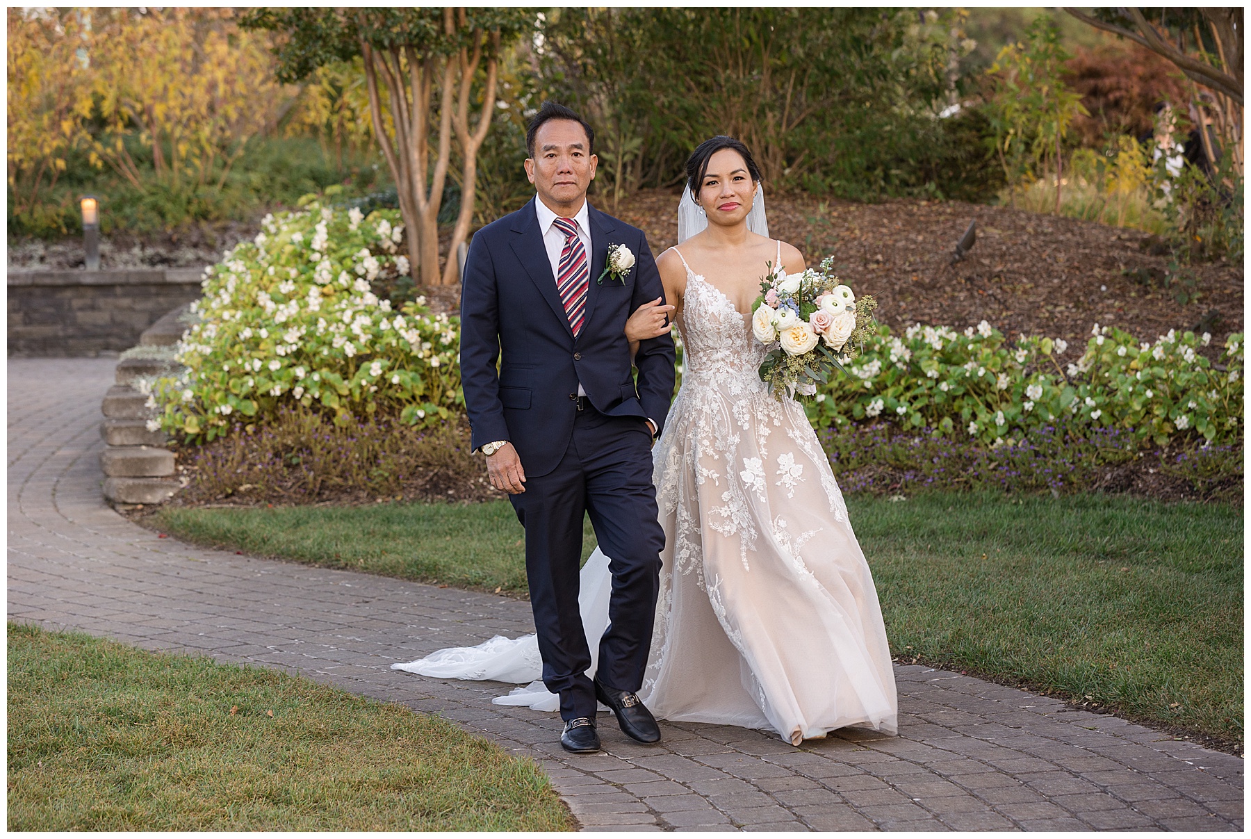
[[[1242,511],[1125,496],[852,499],[891,648],[1242,743]]]

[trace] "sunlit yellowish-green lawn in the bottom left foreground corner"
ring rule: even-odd
[[[9,830],[568,830],[530,760],[273,670],[9,624]]]

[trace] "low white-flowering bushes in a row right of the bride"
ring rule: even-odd
[[[1226,441],[1242,434],[1242,335],[1226,341],[1223,369],[1197,353],[1210,340],[1170,330],[1137,343],[1096,324],[1086,353],[1061,365],[1065,341],[1031,336],[1010,345],[985,320],[963,333],[918,324],[903,338],[878,326],[851,375],[821,385],[808,413],[817,425],[884,413],[991,443],[1058,420],[1131,430],[1158,445],[1191,429]]]

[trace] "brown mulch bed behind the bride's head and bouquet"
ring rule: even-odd
[[[677,244],[678,198],[677,190],[639,193],[614,215],[642,228],[659,254]],[[1213,358],[1226,335],[1242,331],[1242,265],[1188,266],[1200,299],[1178,305],[1125,273],[1158,276],[1168,266],[1167,255],[1152,253],[1156,240],[1138,230],[963,201],[856,204],[801,194],[768,195],[766,204],[769,234],[796,245],[809,265],[833,255],[857,294],[877,299],[877,318],[891,329],[963,329],[985,318],[1010,338],[1063,338],[1073,358],[1096,323],[1146,341],[1170,329],[1210,331]],[[607,200],[597,206],[612,211]],[[977,244],[951,265],[971,220]]]

